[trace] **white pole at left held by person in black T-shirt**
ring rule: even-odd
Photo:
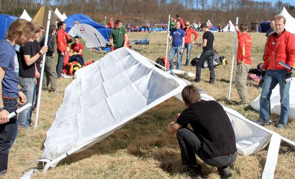
[[[46,27],[46,34],[45,34],[45,40],[44,40],[44,46],[47,46],[48,41],[48,35],[49,35],[49,26],[50,26],[50,18],[51,18],[51,11],[48,11],[48,19],[47,19],[47,27]],[[36,110],[36,118],[35,118],[35,127],[38,126],[38,117],[39,117],[39,108],[40,108],[40,99],[41,99],[41,93],[42,93],[42,81],[43,81],[43,73],[44,73],[44,67],[46,63],[46,53],[42,56],[42,68],[41,68],[41,74],[40,74],[40,82],[39,82],[39,92],[37,97],[37,110]]]

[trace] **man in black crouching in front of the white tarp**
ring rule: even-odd
[[[217,167],[222,177],[232,176],[229,165],[237,158],[236,139],[223,107],[216,101],[201,100],[198,89],[193,85],[186,86],[181,96],[188,108],[175,115],[167,132],[168,135],[177,133],[183,165],[201,177],[197,154],[206,164]]]

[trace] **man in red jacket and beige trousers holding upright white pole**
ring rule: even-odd
[[[247,76],[248,71],[251,68],[251,47],[252,39],[247,33],[247,24],[241,24],[240,29],[236,27],[238,33],[238,52],[237,52],[237,70],[236,70],[236,86],[238,95],[241,99],[241,104],[247,104],[248,93],[247,93]]]

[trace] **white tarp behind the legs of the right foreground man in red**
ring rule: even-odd
[[[255,110],[260,108],[260,95],[251,102],[251,106]],[[292,78],[290,91],[289,91],[289,117],[295,119],[295,77]],[[281,103],[280,103],[280,86],[279,84],[273,89],[273,93],[270,96],[270,113],[275,113],[277,115],[281,114]]]

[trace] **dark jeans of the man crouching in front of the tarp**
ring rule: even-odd
[[[211,157],[202,150],[202,142],[189,128],[180,128],[177,130],[177,139],[181,152],[181,161],[188,167],[196,166],[196,155],[206,164],[213,167],[229,166],[237,159],[237,152],[230,155]]]

